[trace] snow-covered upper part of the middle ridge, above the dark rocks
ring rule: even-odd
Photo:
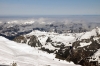
[[[41,43],[42,47],[45,47],[50,50],[55,50],[55,47],[56,49],[59,49],[61,45],[72,46],[72,44],[75,41],[81,41],[79,47],[90,45],[91,42],[85,42],[85,41],[89,40],[93,36],[94,37],[98,36],[99,34],[100,34],[100,28],[98,27],[88,32],[63,33],[63,34],[35,30],[29,34],[16,37],[14,41],[19,42],[19,43],[29,44],[31,37],[34,35],[35,37],[37,37],[36,38],[37,41],[33,43],[36,43],[36,42],[38,43],[39,41],[39,44]],[[47,41],[48,39],[49,41]]]

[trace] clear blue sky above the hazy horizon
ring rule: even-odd
[[[100,15],[100,0],[0,0],[3,15]]]

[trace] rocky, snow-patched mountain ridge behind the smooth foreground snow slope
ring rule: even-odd
[[[56,58],[73,61],[82,66],[100,64],[99,60],[91,60],[100,49],[100,28],[82,33],[58,34],[54,32],[32,31],[18,36],[14,41],[39,47],[40,50],[56,54]],[[30,43],[30,44],[29,44]],[[97,55],[99,57],[100,55]],[[95,64],[95,62],[97,62]],[[97,65],[96,65],[97,66]]]

